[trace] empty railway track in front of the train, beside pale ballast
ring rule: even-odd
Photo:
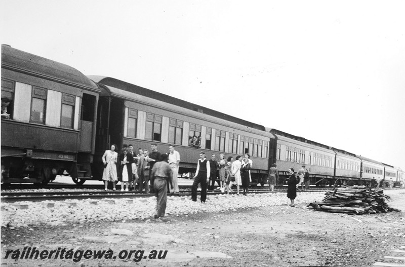
[[[308,189],[307,191],[298,192],[323,192],[326,189]],[[235,190],[234,190],[235,192]],[[266,194],[266,193],[285,193],[286,189],[276,189],[271,192],[268,189],[251,189],[248,194]],[[222,195],[220,190],[213,190],[207,192],[207,195]],[[234,193],[235,194],[235,193]],[[144,194],[141,192],[121,192],[121,191],[54,191],[54,192],[15,192],[15,193],[2,193],[1,201],[3,203],[13,203],[21,201],[45,201],[45,200],[83,200],[83,199],[125,199],[125,198],[148,198],[153,197],[154,194]],[[190,190],[181,190],[178,194],[168,194],[168,196],[189,197],[191,196]]]

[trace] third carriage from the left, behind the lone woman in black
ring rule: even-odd
[[[329,146],[294,136],[276,129],[267,129],[276,137],[275,162],[284,183],[288,169],[295,171],[305,165],[310,173],[311,184],[330,184],[334,177],[335,153]]]

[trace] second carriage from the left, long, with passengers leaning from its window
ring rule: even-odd
[[[195,172],[200,151],[205,151],[208,159],[215,154],[217,160],[220,154],[226,159],[249,153],[252,183],[264,184],[274,137],[263,126],[114,78],[89,78],[103,89],[94,165],[99,176],[101,155],[111,143],[119,147],[133,144],[135,150],[157,143],[159,152],[168,152],[170,144],[176,145],[181,155],[179,173]],[[201,136],[200,148],[188,145],[194,135]]]

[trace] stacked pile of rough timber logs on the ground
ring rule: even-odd
[[[318,211],[375,214],[388,211],[400,211],[388,206],[390,197],[383,194],[383,190],[376,190],[365,186],[336,187],[328,191],[321,202],[309,203]]]

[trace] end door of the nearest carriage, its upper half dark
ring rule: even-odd
[[[83,94],[82,117],[80,118],[80,146],[79,151],[91,152],[93,141],[94,116],[96,112],[96,96]]]

